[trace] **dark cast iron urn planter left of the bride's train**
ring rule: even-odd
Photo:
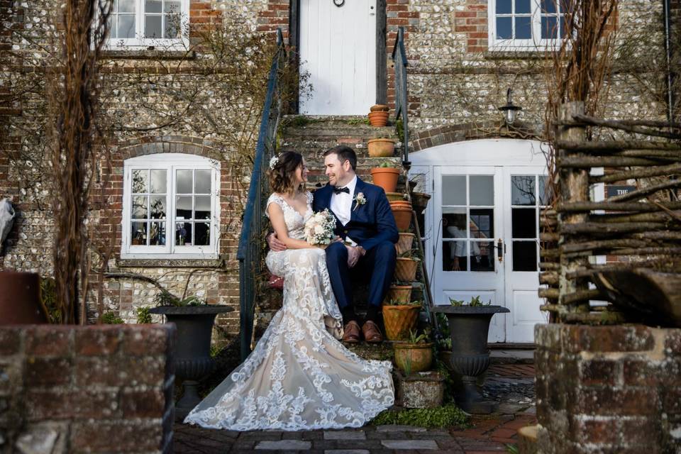
[[[199,380],[213,371],[211,333],[217,314],[231,312],[230,306],[159,306],[152,314],[166,316],[167,323],[177,326],[175,375],[182,381],[182,398],[175,404],[175,416],[184,419],[201,402]]]

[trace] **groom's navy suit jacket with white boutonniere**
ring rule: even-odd
[[[363,205],[358,205],[355,200],[360,192],[364,194],[367,200],[367,203]],[[314,192],[312,209],[315,212],[324,209],[331,211],[332,194],[333,186],[331,184],[317,189]],[[365,250],[370,250],[382,241],[397,243],[399,235],[397,234],[395,217],[383,189],[374,184],[365,183],[358,177],[355,194],[353,194],[353,205],[350,209],[350,221],[343,226],[341,221],[336,218],[335,233],[343,239],[349,236]]]

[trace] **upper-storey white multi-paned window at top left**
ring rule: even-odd
[[[172,44],[182,40],[189,0],[114,0],[109,18],[112,45]]]

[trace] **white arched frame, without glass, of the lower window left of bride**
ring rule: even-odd
[[[167,170],[165,245],[131,244],[133,170]],[[211,170],[211,227],[209,245],[175,245],[175,170]],[[157,153],[132,157],[123,164],[122,259],[210,259],[218,258],[220,233],[220,162],[197,155]]]

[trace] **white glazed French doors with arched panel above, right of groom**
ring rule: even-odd
[[[509,314],[492,318],[489,342],[533,342],[534,325],[546,322],[537,292],[542,144],[468,140],[409,157],[417,190],[432,196],[421,235],[433,303],[479,296],[506,306]]]

